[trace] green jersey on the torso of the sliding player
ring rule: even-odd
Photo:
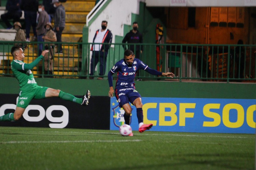
[[[19,60],[13,60],[11,63],[13,75],[19,82],[19,90],[35,89],[37,82],[35,82],[34,75],[31,70],[24,70],[24,64]]]

